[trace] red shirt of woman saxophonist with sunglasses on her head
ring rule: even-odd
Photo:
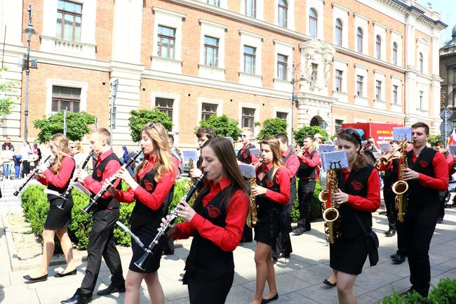
[[[350,176],[350,171],[346,168],[342,168],[342,173],[344,176],[344,182],[346,182]],[[367,212],[374,212],[380,207],[380,178],[378,176],[378,171],[375,168],[372,172],[370,172],[370,176],[368,178],[367,193],[366,197],[349,194],[347,204],[356,210]]]

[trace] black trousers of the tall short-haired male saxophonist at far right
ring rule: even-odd
[[[410,283],[413,289],[422,296],[427,296],[431,282],[431,265],[429,263],[429,245],[437,224],[438,201],[413,206],[409,202],[405,220],[405,236],[408,249],[408,267]]]

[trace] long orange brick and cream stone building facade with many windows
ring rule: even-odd
[[[239,126],[279,117],[295,129],[342,123],[427,122],[440,118],[438,13],[401,0],[0,0],[4,79],[16,79],[18,106],[4,136],[23,136],[29,4],[38,34],[30,55],[32,121],[85,110],[109,126],[113,144],[131,145],[130,110],[158,107],[180,147],[196,147],[194,127],[211,114]],[[6,31],[5,31],[5,25]]]

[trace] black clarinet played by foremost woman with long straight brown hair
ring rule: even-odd
[[[184,197],[182,197],[182,199],[180,201],[188,202],[190,200],[190,198],[192,197],[192,195],[194,194],[194,192],[196,191],[196,189],[198,188],[199,184],[203,182],[203,179],[205,176],[206,176],[206,172],[203,172],[203,174],[201,174],[201,176],[199,176],[199,178],[197,178],[194,181],[192,187],[190,187],[190,189],[187,191],[187,193],[184,195]],[[142,257],[139,260],[137,260],[135,262],[135,265],[138,268],[140,268],[141,270],[146,269],[146,265],[149,262],[150,258],[152,258],[152,254],[154,254],[154,250],[155,250],[156,246],[160,243],[162,237],[166,234],[166,232],[168,232],[170,227],[173,225],[175,220],[178,218],[178,216],[177,216],[177,210],[178,210],[177,207],[178,206],[179,206],[179,204],[177,204],[175,209],[173,209],[173,211],[171,211],[171,213],[169,214],[170,219],[166,221],[166,223],[163,225],[163,228],[161,229],[161,231],[157,232],[156,236],[152,240],[152,243],[150,243],[150,245],[147,246],[147,248],[143,248],[146,252],[142,255]]]

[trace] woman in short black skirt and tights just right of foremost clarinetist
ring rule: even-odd
[[[284,227],[281,218],[282,206],[288,204],[290,199],[290,176],[287,168],[282,166],[279,140],[262,140],[260,150],[262,165],[257,168],[257,186],[252,187],[258,206],[258,223],[255,226],[257,284],[255,298],[250,304],[269,303],[279,298],[271,248],[276,244],[276,238]],[[262,298],[266,282],[269,293]]]

